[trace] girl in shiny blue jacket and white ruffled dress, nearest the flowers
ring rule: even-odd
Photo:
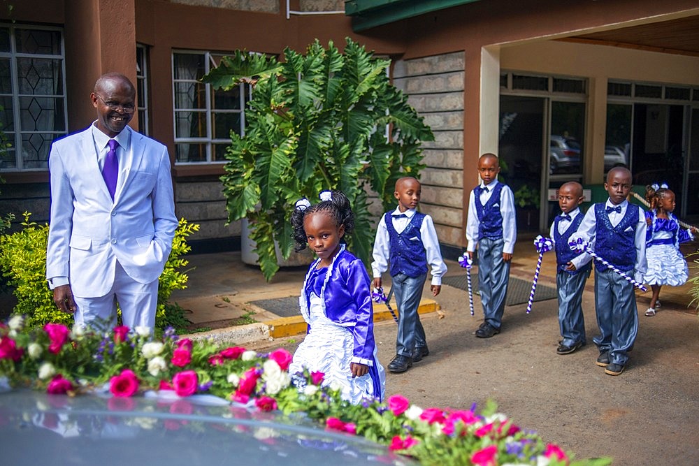
[[[291,215],[296,252],[308,245],[318,256],[308,269],[299,305],[308,334],[298,345],[289,373],[323,372],[324,385],[340,387],[358,404],[384,398],[385,373],[374,342],[370,279],[363,263],[345,249],[354,214],[339,191],[323,191],[321,202],[301,199]]]

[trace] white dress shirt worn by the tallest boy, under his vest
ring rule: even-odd
[[[498,184],[498,180],[493,180],[491,184],[483,184],[481,182],[481,187],[488,188],[488,191],[482,191],[480,195],[480,201],[482,205],[488,202],[490,197],[493,195],[493,188]],[[468,246],[466,250],[468,252],[474,252],[476,250],[476,244],[478,242],[478,226],[480,221],[478,220],[478,214],[476,213],[476,201],[474,191],[471,191],[470,196],[468,196],[468,217],[466,217],[466,240],[468,240]],[[507,184],[503,184],[503,189],[500,191],[500,214],[503,216],[503,240],[505,244],[503,245],[503,253],[512,254],[514,251],[514,242],[517,240],[517,219],[514,214],[514,195],[512,194],[512,189],[510,189]]]

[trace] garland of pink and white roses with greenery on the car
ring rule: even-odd
[[[330,430],[360,435],[424,465],[606,465],[572,460],[556,444],[521,430],[489,403],[468,410],[422,409],[401,395],[350,405],[324,374],[289,374],[291,354],[217,347],[166,330],[117,326],[98,331],[60,323],[24,328],[21,316],[0,323],[0,379],[13,388],[79,395],[103,390],[115,400],[147,391],[179,397],[215,395],[261,412],[301,413]],[[3,381],[0,380],[0,385]],[[1,400],[1,398],[0,398]]]

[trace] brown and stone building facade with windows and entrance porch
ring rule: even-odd
[[[94,120],[94,80],[138,88],[132,125],[168,146],[179,217],[200,251],[236,249],[219,175],[245,129],[249,89],[199,78],[236,49],[281,54],[346,36],[391,59],[424,115],[422,209],[447,250],[466,245],[477,158],[493,152],[516,193],[519,231],[545,231],[555,189],[591,192],[612,166],[668,182],[680,217],[699,216],[699,7],[617,0],[16,0],[0,14],[0,213],[48,221],[50,142]]]

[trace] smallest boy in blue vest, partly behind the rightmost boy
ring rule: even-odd
[[[585,319],[582,314],[582,292],[590,276],[592,257],[584,252],[573,252],[568,247],[570,236],[582,223],[582,184],[571,181],[559,188],[559,207],[551,224],[550,238],[556,251],[556,288],[559,292],[559,327],[561,337],[557,354],[570,354],[586,343]]]

